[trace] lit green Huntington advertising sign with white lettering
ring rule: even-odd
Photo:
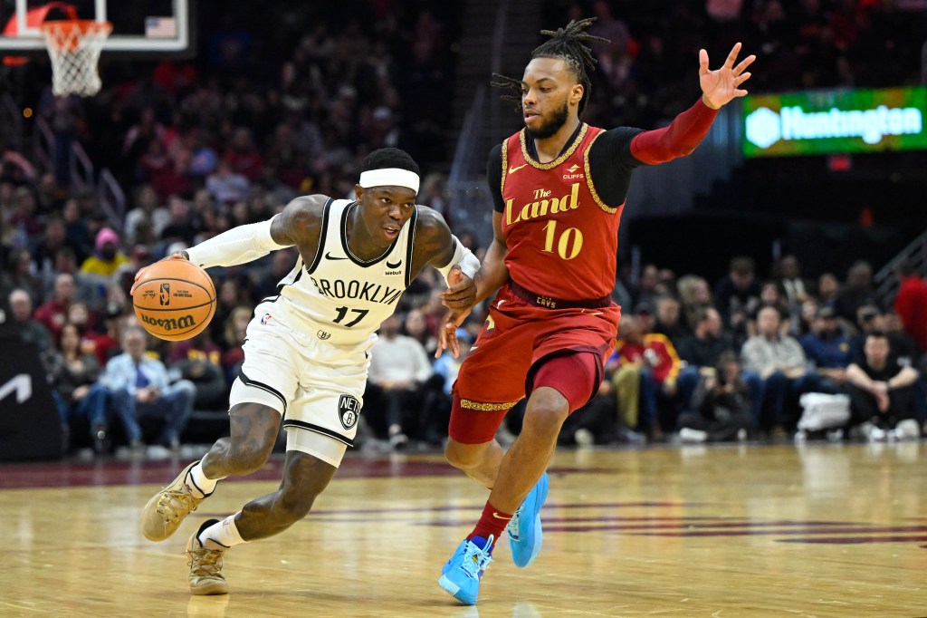
[[[927,149],[927,88],[813,90],[743,98],[743,156]]]

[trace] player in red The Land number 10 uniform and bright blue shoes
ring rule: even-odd
[[[536,48],[518,90],[525,128],[489,153],[495,239],[476,274],[476,301],[499,289],[489,319],[454,385],[446,456],[491,492],[473,532],[442,569],[439,584],[474,604],[493,543],[508,525],[516,566],[540,551],[540,507],[557,434],[602,381],[620,309],[615,285],[618,221],[630,175],[641,165],[683,157],[708,132],[717,109],[746,91],[746,68],[708,69],[699,52],[703,95],[666,128],[609,131],[579,120],[595,60],[584,42],[592,19],[571,21]],[[440,333],[456,349],[451,314]],[[521,434],[503,453],[494,440],[506,412],[528,397]],[[532,489],[533,487],[533,489]]]

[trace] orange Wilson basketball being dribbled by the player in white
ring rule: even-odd
[[[148,266],[132,295],[142,327],[159,339],[196,337],[216,313],[216,289],[206,271],[186,260]]]

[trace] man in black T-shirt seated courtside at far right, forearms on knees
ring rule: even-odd
[[[871,441],[917,439],[921,435],[914,419],[917,370],[893,360],[883,332],[867,334],[863,352],[863,359],[846,369],[851,423]]]

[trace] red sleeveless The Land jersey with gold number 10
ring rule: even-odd
[[[602,133],[583,123],[569,148],[549,163],[528,154],[524,129],[502,143],[505,264],[527,290],[578,301],[615,288],[624,204],[603,203],[589,173],[589,150]]]

